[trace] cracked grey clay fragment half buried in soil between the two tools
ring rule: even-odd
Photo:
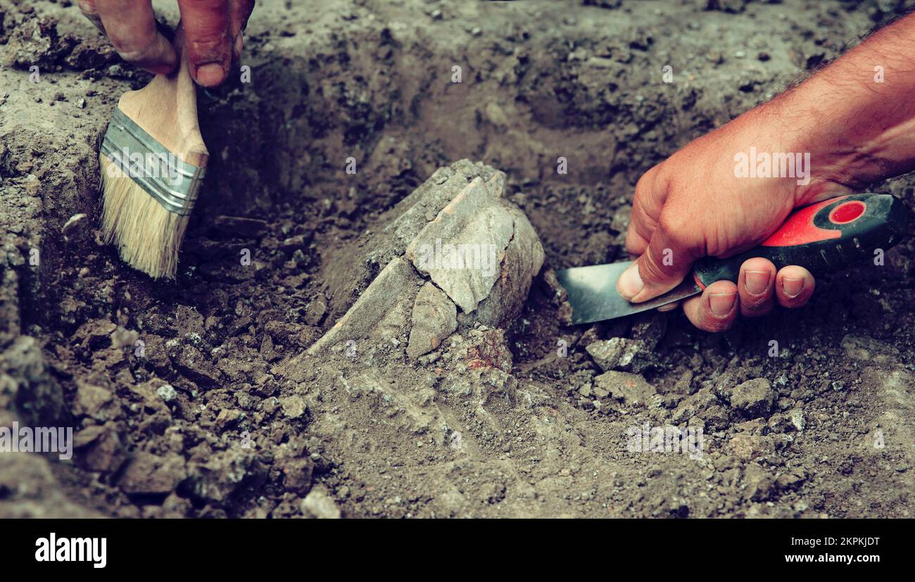
[[[458,322],[500,326],[517,317],[544,249],[504,191],[504,175],[490,167],[462,160],[439,168],[398,205],[398,216],[374,229],[381,234],[369,243],[371,257],[397,254],[307,354],[347,345],[352,353],[371,340],[397,350],[405,344],[415,360]]]

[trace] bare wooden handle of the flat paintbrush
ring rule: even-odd
[[[184,162],[205,167],[210,154],[200,135],[197,87],[190,77],[184,28],[180,25],[173,46],[178,53],[178,70],[156,75],[139,91],[124,93],[118,108]]]

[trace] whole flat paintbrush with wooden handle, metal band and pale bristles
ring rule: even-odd
[[[99,152],[105,242],[115,242],[125,263],[154,279],[175,278],[210,157],[180,26],[173,45],[178,70],[124,93]]]

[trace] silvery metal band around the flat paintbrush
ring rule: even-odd
[[[134,180],[163,208],[190,214],[206,168],[184,162],[120,109],[115,108],[108,124],[102,154],[112,161],[113,171]]]

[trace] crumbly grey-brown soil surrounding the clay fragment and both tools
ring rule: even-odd
[[[74,3],[0,0],[0,425],[78,447],[0,454],[0,515],[912,516],[915,238],[725,334],[566,327],[550,285],[623,256],[642,172],[904,4],[260,3],[250,82],[201,92],[206,185],[154,282],[98,232],[98,144],[148,75]],[[521,317],[419,362],[297,358],[356,299],[340,254],[462,158],[544,244]],[[911,205],[915,179],[872,190]],[[617,337],[644,342],[620,376],[642,396],[596,380],[586,347]],[[646,423],[703,428],[704,454],[630,451]]]

